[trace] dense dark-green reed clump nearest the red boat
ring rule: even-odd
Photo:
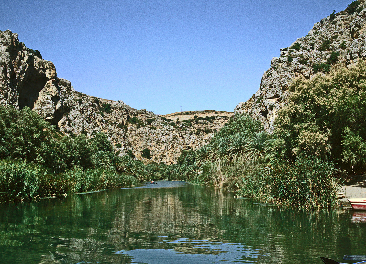
[[[333,165],[314,157],[278,163],[261,177],[261,200],[303,208],[337,207],[339,182],[332,177],[334,172]]]

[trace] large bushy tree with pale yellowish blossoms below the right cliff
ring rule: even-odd
[[[366,66],[341,68],[329,76],[295,79],[287,106],[275,120],[288,157],[331,157],[348,172],[365,171]]]

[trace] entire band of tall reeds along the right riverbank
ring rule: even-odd
[[[264,167],[264,160],[244,157],[231,163],[206,162],[195,183],[213,185],[226,191],[239,191],[243,197],[262,202],[301,208],[337,206],[340,182],[333,177],[335,167],[314,157],[299,158]]]

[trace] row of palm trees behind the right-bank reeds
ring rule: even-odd
[[[205,161],[216,160],[230,162],[243,156],[248,159],[267,158],[272,143],[273,138],[265,131],[245,131],[229,137],[219,137],[197,150],[196,164],[201,166]]]

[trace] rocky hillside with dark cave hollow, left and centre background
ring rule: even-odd
[[[0,31],[0,104],[30,107],[67,135],[93,137],[103,132],[122,154],[132,150],[145,163],[167,164],[174,163],[182,149],[206,144],[233,114],[193,111],[166,117],[76,92],[69,81],[57,77],[52,62],[19,42],[10,30]],[[145,148],[150,149],[151,160],[141,157]]]

